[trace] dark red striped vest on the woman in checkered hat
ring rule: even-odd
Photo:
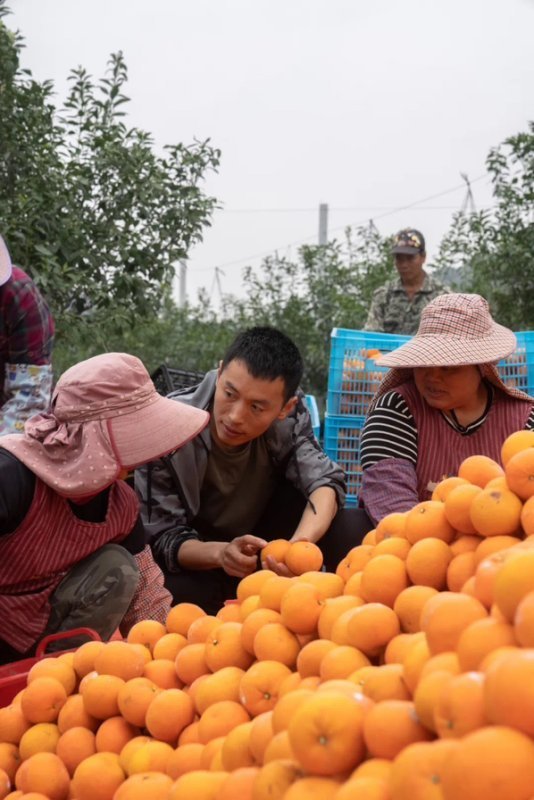
[[[417,492],[419,501],[430,500],[439,481],[458,474],[468,456],[484,455],[501,463],[501,447],[511,433],[522,430],[532,410],[528,400],[510,397],[494,389],[494,399],[484,423],[469,436],[462,436],[442,414],[423,400],[413,381],[395,387],[406,400],[417,428]]]

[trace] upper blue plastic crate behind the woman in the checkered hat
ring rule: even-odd
[[[387,372],[375,359],[390,353],[410,336],[334,328],[331,334],[326,411],[341,416],[365,416]],[[517,348],[498,364],[508,386],[534,394],[534,331],[516,333]]]

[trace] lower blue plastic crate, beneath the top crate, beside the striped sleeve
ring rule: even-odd
[[[334,417],[325,414],[324,450],[345,471],[349,507],[358,505],[362,483],[360,466],[360,434],[365,417]]]

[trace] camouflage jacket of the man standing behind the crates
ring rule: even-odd
[[[423,308],[438,295],[449,291],[448,287],[427,274],[419,291],[410,299],[400,278],[394,278],[375,290],[364,330],[413,336],[417,333]]]

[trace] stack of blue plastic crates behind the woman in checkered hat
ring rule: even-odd
[[[499,363],[508,386],[534,394],[534,331],[516,333],[517,349]],[[409,336],[334,328],[324,424],[324,448],[347,474],[347,505],[358,503],[361,486],[360,434],[365,415],[387,367],[376,359]]]

